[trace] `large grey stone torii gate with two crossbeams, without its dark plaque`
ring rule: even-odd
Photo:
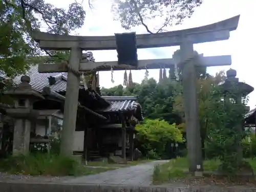
[[[180,46],[180,65],[182,67],[189,170],[193,173],[203,169],[198,100],[196,94],[196,72],[194,66],[200,65],[198,63],[206,67],[231,65],[230,55],[212,57],[203,57],[202,55],[195,56],[193,44],[229,39],[230,31],[237,29],[239,18],[240,15],[222,20],[215,24],[197,28],[157,34],[136,35],[138,49]],[[137,70],[145,69],[145,67],[147,69],[159,69],[161,65],[164,65],[165,68],[169,68],[176,64],[173,59],[151,59],[139,60],[137,67],[123,66],[122,68],[122,65],[119,65],[117,61],[85,62],[81,59],[82,50],[117,49],[115,36],[70,36],[33,31],[32,37],[38,42],[41,49],[71,50],[69,66],[67,66],[67,63],[41,64],[38,66],[40,73],[68,72],[65,112],[63,117],[63,130],[65,130],[65,132],[62,134],[62,139],[68,142],[67,146],[65,146],[65,152],[62,151],[63,154],[72,154],[78,102],[78,72],[110,70],[111,67],[115,70],[118,66],[119,70]],[[197,58],[197,60],[194,58]],[[102,66],[104,68],[102,68]],[[71,68],[73,70],[71,70]]]

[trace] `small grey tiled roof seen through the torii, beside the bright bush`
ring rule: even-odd
[[[102,98],[111,102],[109,108],[102,110],[104,112],[132,111],[138,106],[136,96],[102,96]]]

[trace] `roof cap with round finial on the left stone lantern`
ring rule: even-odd
[[[6,95],[10,96],[34,96],[40,99],[45,99],[44,96],[42,96],[37,91],[33,90],[30,83],[30,77],[28,75],[23,75],[20,80],[20,82],[16,89],[5,92]]]

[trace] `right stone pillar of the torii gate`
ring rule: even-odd
[[[183,59],[193,57],[193,42],[184,39],[180,45],[180,52]],[[203,169],[203,159],[196,86],[197,77],[194,62],[191,60],[182,66],[182,86],[189,171],[194,173],[198,170],[200,173]]]

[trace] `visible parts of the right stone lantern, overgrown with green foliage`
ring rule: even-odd
[[[237,78],[237,71],[234,69],[229,69],[226,72],[227,79],[223,84],[221,84],[221,88],[224,93],[224,101],[229,102],[230,99],[233,99],[235,103],[242,103],[242,97],[247,96],[250,94],[254,88],[251,87],[249,84],[245,82],[240,82],[239,78]],[[233,95],[233,96],[232,96]],[[234,97],[234,98],[232,98]],[[246,109],[246,106],[245,106]],[[237,126],[237,129],[239,129],[240,132],[243,130],[243,122]],[[238,141],[238,154],[239,154],[239,159],[242,160],[243,157],[243,151],[242,151],[242,146],[240,144],[240,141]]]

